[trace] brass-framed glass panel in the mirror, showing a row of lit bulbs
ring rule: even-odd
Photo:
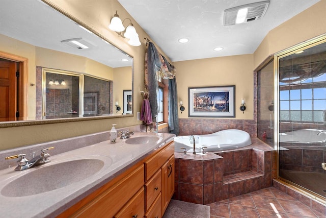
[[[43,119],[78,117],[79,76],[45,71]]]

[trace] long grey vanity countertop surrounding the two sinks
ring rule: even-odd
[[[153,133],[137,132],[133,137],[147,134]],[[135,162],[151,154],[160,144],[173,140],[174,136],[173,134],[165,133],[157,134],[162,137],[162,140],[158,144],[126,144],[122,139],[118,139],[117,143],[111,144],[110,141],[107,140],[93,143],[91,146],[53,155],[51,152],[55,151],[55,148],[55,150],[49,151],[52,155],[49,158],[51,160],[49,163],[26,169],[22,172],[14,171],[15,165],[12,165],[10,168],[2,169],[0,171],[0,190],[14,179],[19,179],[20,176],[36,172],[40,168],[46,169],[47,166],[57,163],[77,159],[100,159],[104,162],[104,166],[93,176],[78,180],[73,184],[55,190],[25,197],[6,197],[3,195],[4,192],[2,192],[0,195],[0,202],[2,202],[0,205],[1,215],[3,217],[54,217],[60,214],[79,200],[88,196],[94,190],[101,187],[103,184],[106,184]],[[40,147],[41,146],[43,145],[40,145]],[[41,148],[37,148],[37,150],[40,149]],[[14,154],[15,152],[10,153],[10,155]],[[51,174],[57,172],[48,173]],[[44,175],[44,178],[46,178],[46,174]],[[33,181],[29,182],[33,184]],[[23,187],[21,188],[23,189]]]

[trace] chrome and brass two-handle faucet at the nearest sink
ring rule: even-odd
[[[11,159],[20,157],[20,159],[17,161],[18,166],[15,168],[15,171],[24,171],[25,169],[32,168],[33,166],[50,162],[50,160],[47,159],[47,158],[49,156],[51,156],[51,155],[48,154],[48,153],[45,153],[45,151],[51,150],[51,149],[54,149],[54,148],[55,147],[50,147],[50,148],[42,149],[41,150],[41,154],[38,155],[38,156],[36,156],[36,157],[33,157],[32,160],[26,159],[25,158],[26,154],[17,154],[17,155],[6,157],[5,159],[6,160],[11,160]]]

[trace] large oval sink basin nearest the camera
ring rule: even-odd
[[[56,164],[46,164],[35,170],[33,168],[26,169],[23,176],[16,178],[3,187],[1,195],[23,197],[62,188],[96,174],[104,166],[104,161],[99,159],[77,159]],[[111,163],[108,164],[111,165]]]

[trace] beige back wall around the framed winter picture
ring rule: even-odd
[[[253,55],[179,61],[177,68],[178,101],[185,111],[180,118],[188,117],[188,87],[235,85],[235,118],[253,119]],[[241,98],[246,100],[246,111],[239,110]]]

